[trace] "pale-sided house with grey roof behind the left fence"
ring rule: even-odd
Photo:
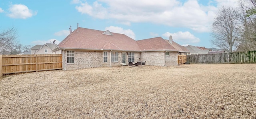
[[[31,54],[61,54],[61,51],[51,52],[57,44],[46,43],[44,45],[35,45],[31,48]]]

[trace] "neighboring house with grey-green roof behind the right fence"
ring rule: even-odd
[[[210,49],[206,49],[204,47],[196,47],[192,45],[186,46],[186,49],[190,51],[190,55],[208,54],[210,51]]]

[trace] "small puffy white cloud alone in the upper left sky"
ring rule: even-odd
[[[13,4],[8,10],[9,14],[7,14],[7,16],[15,19],[26,19],[37,14],[37,12],[29,10],[28,7],[23,4]]]

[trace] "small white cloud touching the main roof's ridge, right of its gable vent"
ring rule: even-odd
[[[113,33],[125,34],[128,37],[135,40],[135,33],[131,29],[123,29],[122,27],[110,26],[110,27],[106,27],[105,30],[108,30]]]

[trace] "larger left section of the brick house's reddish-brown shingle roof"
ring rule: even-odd
[[[140,51],[136,41],[124,34],[102,34],[105,31],[79,27],[68,35],[60,44],[61,49],[94,49]]]

